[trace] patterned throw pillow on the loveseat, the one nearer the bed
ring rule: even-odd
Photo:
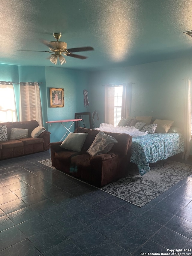
[[[114,143],[117,142],[118,141],[112,136],[105,134],[103,131],[100,131],[95,136],[95,140],[86,152],[91,156],[107,153],[112,149]]]

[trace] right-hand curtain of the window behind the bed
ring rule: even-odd
[[[121,117],[128,118],[128,116],[130,116],[131,95],[132,95],[132,83],[124,83],[123,95],[122,95]]]

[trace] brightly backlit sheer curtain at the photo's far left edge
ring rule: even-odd
[[[0,81],[0,123],[17,121],[12,82]]]

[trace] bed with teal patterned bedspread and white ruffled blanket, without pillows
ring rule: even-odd
[[[156,163],[184,151],[184,136],[181,132],[154,133],[141,132],[131,126],[114,126],[103,123],[101,131],[127,133],[132,136],[131,162],[137,164],[140,175],[149,172],[149,163]]]

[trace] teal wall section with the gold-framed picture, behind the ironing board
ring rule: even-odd
[[[74,119],[74,113],[89,111],[85,109],[83,90],[88,90],[88,72],[72,69],[45,67],[46,94],[47,94],[47,120],[56,121]],[[64,107],[50,107],[49,88],[64,88]],[[71,122],[64,124],[67,128]],[[51,141],[59,141],[65,133],[61,123],[48,125],[51,132]],[[74,126],[71,128],[74,131]]]

